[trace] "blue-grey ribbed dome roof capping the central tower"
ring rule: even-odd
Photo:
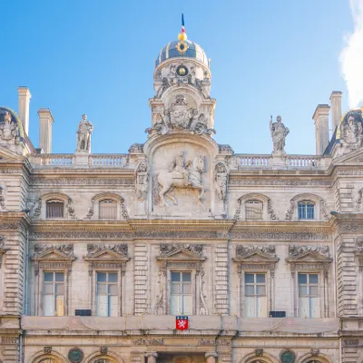
[[[188,49],[186,52],[180,52],[178,50],[178,44],[180,43],[181,42],[176,40],[163,46],[162,50],[160,51],[159,55],[155,60],[155,68],[167,59],[181,57],[195,59],[209,67],[207,54],[205,54],[200,45],[191,42],[190,40],[186,40],[185,44],[188,45]]]

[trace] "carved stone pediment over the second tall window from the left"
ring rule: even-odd
[[[89,263],[89,275],[92,276],[94,269],[118,268],[123,274],[126,271],[126,262],[130,260],[128,256],[128,245],[125,243],[105,245],[87,244],[87,255],[83,260]]]

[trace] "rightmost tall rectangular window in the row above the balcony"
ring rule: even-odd
[[[299,273],[299,318],[319,318],[319,274]]]

